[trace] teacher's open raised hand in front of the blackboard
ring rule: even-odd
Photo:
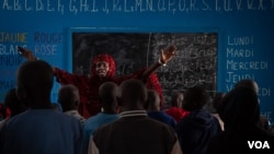
[[[170,45],[164,50],[161,49],[161,55],[159,58],[159,63],[167,64],[175,56],[176,47],[175,45]]]

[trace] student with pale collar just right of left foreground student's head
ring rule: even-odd
[[[85,118],[78,112],[80,95],[75,85],[62,85],[58,91],[58,102],[61,105],[62,112],[77,118],[83,125]]]

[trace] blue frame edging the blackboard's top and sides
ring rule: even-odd
[[[161,27],[161,28],[155,28],[155,27],[70,27],[69,28],[69,39],[68,39],[68,49],[69,49],[69,54],[68,54],[68,59],[72,60],[72,54],[73,54],[73,38],[72,35],[75,33],[215,33],[217,35],[217,54],[216,54],[216,76],[215,76],[215,87],[214,91],[209,91],[210,96],[213,97],[214,94],[216,92],[218,92],[218,80],[221,76],[221,74],[219,72],[221,72],[221,69],[218,67],[219,61],[221,60],[220,57],[220,52],[222,49],[220,49],[220,47],[222,47],[221,45],[221,35],[224,34],[219,28],[216,27],[195,27],[195,28],[167,28],[167,27]],[[72,69],[72,62],[69,62],[68,64],[68,70],[70,70],[71,72],[73,72]],[[168,92],[169,94],[171,94],[171,92]],[[170,99],[170,98],[168,98]]]

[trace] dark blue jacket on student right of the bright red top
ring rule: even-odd
[[[204,154],[208,141],[221,129],[217,118],[205,109],[197,109],[181,119],[175,131],[184,154]]]

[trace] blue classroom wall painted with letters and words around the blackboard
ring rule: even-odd
[[[72,71],[71,33],[217,33],[217,87],[241,79],[260,86],[261,111],[274,121],[273,0],[0,0],[0,102],[15,86],[23,46]],[[56,102],[58,84],[52,99]]]

